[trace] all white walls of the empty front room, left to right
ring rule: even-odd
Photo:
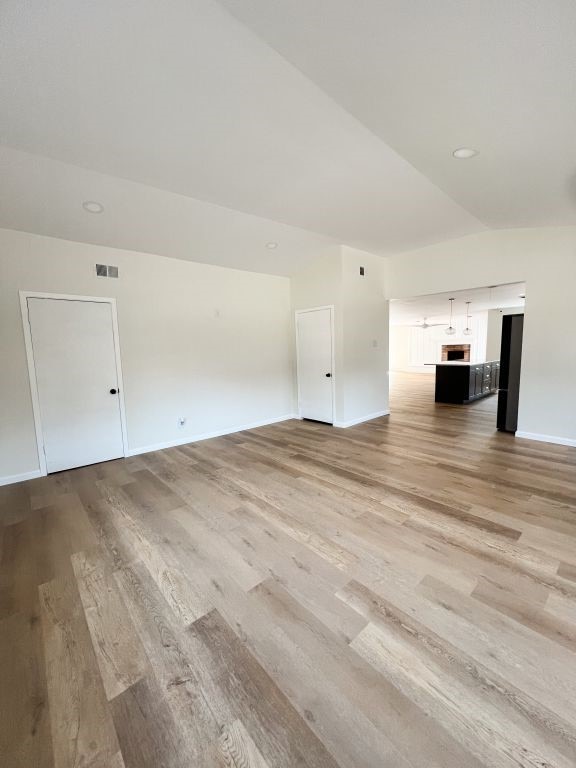
[[[120,279],[96,278],[96,262],[117,264]],[[345,425],[388,409],[384,291],[406,298],[521,281],[519,433],[576,445],[576,345],[565,330],[576,227],[486,232],[386,261],[335,247],[292,281],[0,230],[0,480],[38,469],[19,290],[116,297],[128,447],[138,451],[294,413],[294,309],[335,305]]]

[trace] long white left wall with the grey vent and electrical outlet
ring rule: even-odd
[[[19,290],[116,298],[130,451],[294,411],[287,278],[0,230],[0,480],[38,469]]]

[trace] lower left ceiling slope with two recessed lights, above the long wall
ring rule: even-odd
[[[101,214],[82,202],[100,201]],[[173,258],[291,275],[336,242],[269,219],[0,147],[0,226]],[[266,243],[276,242],[269,250]]]

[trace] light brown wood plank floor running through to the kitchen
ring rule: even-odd
[[[576,451],[393,384],[0,489],[0,764],[574,768]]]

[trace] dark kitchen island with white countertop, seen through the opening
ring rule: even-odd
[[[437,403],[464,405],[494,395],[500,382],[500,361],[436,363]]]

